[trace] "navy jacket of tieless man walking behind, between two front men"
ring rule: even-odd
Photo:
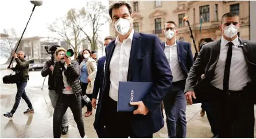
[[[165,49],[165,42],[162,42],[162,49]],[[184,73],[184,75],[188,76],[188,72],[193,65],[193,54],[191,51],[191,45],[189,42],[185,41],[177,41],[177,52],[178,59],[180,63],[180,67]]]

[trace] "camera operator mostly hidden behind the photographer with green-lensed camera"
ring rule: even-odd
[[[55,108],[55,102],[57,100],[57,93],[55,92],[55,78],[52,76],[53,65],[55,63],[54,53],[58,45],[53,45],[50,50],[52,52],[52,57],[48,61],[45,62],[44,67],[42,68],[42,77],[49,76],[48,78],[48,89],[49,89],[49,97],[52,102],[52,107]],[[48,51],[47,51],[48,52]],[[61,134],[67,134],[68,132],[68,114],[65,112],[62,118],[62,125],[61,125]]]

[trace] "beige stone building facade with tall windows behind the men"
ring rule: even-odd
[[[215,41],[221,38],[219,30],[220,19],[229,11],[240,15],[241,27],[239,37],[250,39],[249,1],[129,1],[133,7],[134,30],[141,33],[156,34],[165,41],[162,33],[167,21],[174,21],[178,27],[177,39],[191,42],[188,23],[183,17],[188,15],[188,21],[193,31],[197,50],[202,42]],[[113,3],[113,1],[109,1]],[[200,20],[202,20],[200,30]],[[111,21],[110,21],[111,22]],[[110,23],[110,35],[117,35]],[[195,53],[194,46],[192,51]]]

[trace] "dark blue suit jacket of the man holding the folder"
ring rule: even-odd
[[[110,89],[110,61],[115,49],[115,40],[106,47],[106,69],[104,74],[100,118],[107,113],[107,98]],[[156,35],[134,32],[129,59],[127,81],[153,82],[154,88],[143,103],[149,109],[146,116],[131,116],[131,126],[139,137],[149,136],[164,126],[160,103],[172,86],[172,73],[168,60]]]

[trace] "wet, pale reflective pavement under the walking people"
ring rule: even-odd
[[[17,88],[15,84],[9,85],[2,83],[2,77],[8,73],[9,71],[7,70],[1,70],[1,138],[52,138],[53,108],[48,96],[48,77],[46,77],[44,88],[41,90],[42,82],[44,81],[44,78],[41,77],[41,72],[29,72],[30,80],[26,87],[26,93],[32,102],[35,112],[23,114],[28,106],[24,100],[21,100],[17,111],[14,113],[12,120],[10,120],[9,118],[4,117],[3,113],[10,112],[13,107]],[[200,106],[201,104],[187,106],[187,137],[212,137],[210,124],[207,120],[206,114],[204,117],[200,116]],[[86,107],[83,108],[83,113],[84,112],[86,112]],[[97,137],[93,126],[94,116],[95,110],[90,117],[83,117],[86,136],[89,138]],[[69,132],[62,137],[79,138],[80,135],[70,109],[68,109],[68,119]],[[254,130],[254,134],[256,135],[256,130]],[[164,128],[155,133],[153,137],[168,137],[166,124]]]

